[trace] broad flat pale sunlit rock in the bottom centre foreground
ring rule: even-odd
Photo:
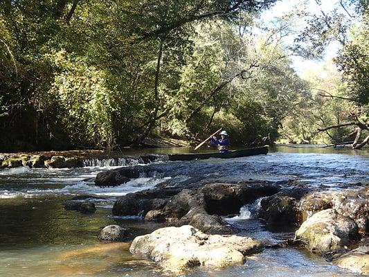
[[[179,273],[195,267],[243,265],[246,256],[261,251],[253,238],[206,235],[190,225],[166,227],[134,239],[129,251],[157,262],[165,271]]]

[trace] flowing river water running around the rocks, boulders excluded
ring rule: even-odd
[[[162,152],[163,150],[156,150]],[[174,149],[165,151],[182,151]],[[132,153],[129,153],[132,154]],[[134,153],[137,154],[137,153]],[[115,200],[158,184],[206,184],[214,181],[294,179],[329,190],[369,183],[369,152],[325,148],[276,148],[267,155],[238,159],[168,162],[150,165],[157,173],[114,188],[93,186],[98,172],[141,161],[94,160],[84,168],[0,170],[0,276],[170,276],[153,262],[129,253],[129,243],[104,244],[96,235],[103,226],[123,224],[135,235],[165,224],[141,217],[114,217]],[[159,170],[160,169],[160,170]],[[83,215],[66,211],[64,202],[76,195],[92,201],[97,211]],[[89,198],[90,197],[90,198]],[[73,200],[82,201],[82,200]],[[273,233],[257,219],[258,204],[244,206],[227,218],[242,235],[276,243],[293,233]],[[243,266],[191,271],[183,276],[357,276],[303,249],[265,249]]]

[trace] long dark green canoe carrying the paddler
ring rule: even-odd
[[[253,155],[267,154],[269,150],[268,145],[258,148],[248,148],[242,150],[230,150],[226,153],[204,153],[204,154],[169,154],[170,161],[191,161],[196,159],[209,159],[209,158],[220,158],[220,159],[231,159],[240,158]]]

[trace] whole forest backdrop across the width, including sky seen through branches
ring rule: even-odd
[[[277,2],[0,1],[0,150],[114,150],[219,127],[233,145],[362,148],[368,0],[328,12],[294,1],[263,21]],[[294,57],[322,58],[332,42],[332,61],[296,73]]]

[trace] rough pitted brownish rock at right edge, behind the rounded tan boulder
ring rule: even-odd
[[[369,188],[334,193],[332,207],[337,213],[352,218],[359,231],[369,231]]]

